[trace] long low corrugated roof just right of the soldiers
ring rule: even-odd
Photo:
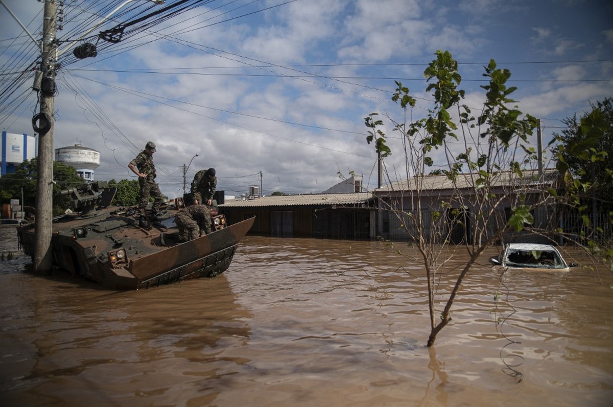
[[[262,207],[262,206],[313,206],[352,205],[366,203],[373,198],[368,192],[360,193],[309,193],[304,195],[262,196],[253,200],[230,200],[219,207]]]

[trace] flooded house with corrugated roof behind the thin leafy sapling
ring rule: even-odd
[[[478,182],[477,180],[481,178]],[[557,170],[530,170],[524,171],[521,176],[513,171],[498,171],[489,174],[485,179],[476,173],[460,173],[455,181],[446,175],[425,175],[411,177],[402,181],[393,182],[373,191],[378,203],[376,217],[376,236],[390,240],[411,239],[414,225],[411,218],[421,215],[426,225],[426,236],[438,233],[447,236],[452,243],[459,244],[471,236],[471,224],[484,222],[484,217],[476,215],[481,209],[490,213],[487,218],[487,231],[492,233],[497,225],[506,225],[511,208],[518,202],[530,205],[543,201],[543,191],[556,188],[560,176]],[[493,197],[489,202],[495,202],[495,207],[484,207],[479,201],[479,194],[475,189],[480,182],[487,182],[489,192]],[[445,203],[444,205],[441,205]],[[489,211],[491,209],[491,211]],[[433,231],[428,228],[432,225],[433,213],[441,214],[451,220],[461,216],[460,222],[447,222],[452,230]],[[460,214],[460,215],[458,215]],[[555,228],[555,207],[542,207],[533,211],[535,225],[541,228]],[[409,228],[407,233],[406,228]],[[522,236],[523,238],[524,236]]]

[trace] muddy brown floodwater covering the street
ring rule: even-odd
[[[611,274],[503,274],[493,254],[428,349],[422,267],[377,242],[247,236],[218,277],[127,292],[21,253],[0,261],[0,404],[613,405]]]

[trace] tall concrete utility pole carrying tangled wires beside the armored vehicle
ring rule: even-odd
[[[42,41],[42,86],[40,91],[39,127],[44,127],[42,121],[49,121],[47,133],[39,134],[38,170],[36,179],[36,226],[34,241],[34,271],[50,272],[51,263],[51,232],[53,217],[53,104],[55,102],[55,68],[57,43],[55,0],[45,0],[45,19],[43,22]]]

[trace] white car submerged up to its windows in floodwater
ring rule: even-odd
[[[519,269],[568,271],[576,263],[566,264],[558,249],[549,244],[509,243],[492,263],[497,266]]]

